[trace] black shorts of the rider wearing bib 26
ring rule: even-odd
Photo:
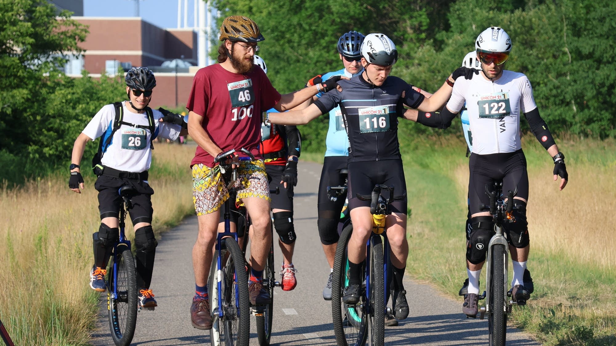
[[[118,190],[124,185],[133,187],[137,194],[131,197],[132,208],[128,213],[133,225],[139,222],[152,223],[152,199],[154,190],[144,180],[109,177],[101,175],[94,183],[94,188],[99,191],[100,219],[105,217],[118,217],[122,198]]]

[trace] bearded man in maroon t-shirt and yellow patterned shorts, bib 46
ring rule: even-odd
[[[220,153],[246,148],[255,160],[240,161],[235,184],[237,200],[245,204],[253,224],[250,247],[251,273],[248,291],[253,305],[269,304],[271,297],[262,287],[262,272],[272,244],[270,195],[263,159],[259,154],[261,112],[275,108],[289,110],[320,91],[336,86],[338,79],[280,95],[261,68],[253,63],[264,38],[250,18],[232,15],[221,26],[219,63],[201,68],[193,79],[186,108],[188,132],[198,147],[190,166],[193,174],[193,201],[199,221],[199,234],[193,247],[195,297],[190,307],[193,327],[211,329],[208,272],[216,242],[219,212],[229,191],[216,169]],[[267,119],[265,119],[267,121]]]

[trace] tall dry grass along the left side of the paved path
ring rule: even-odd
[[[193,154],[192,145],[161,143],[153,151],[155,231],[194,211],[188,167]],[[64,174],[0,190],[0,319],[16,345],[89,340],[98,310],[97,294],[88,286],[92,233],[100,219],[94,178],[85,179],[81,195],[68,189]]]

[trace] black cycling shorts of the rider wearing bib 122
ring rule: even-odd
[[[495,181],[503,181],[503,195],[509,190],[516,197],[529,199],[529,174],[526,171],[526,158],[522,149],[513,153],[477,155],[471,153],[469,159],[469,209],[472,214],[481,212],[480,204],[490,205],[490,197],[485,185],[492,186]]]

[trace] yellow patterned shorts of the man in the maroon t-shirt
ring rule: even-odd
[[[219,166],[210,168],[205,164],[195,164],[193,173],[193,203],[197,215],[205,215],[221,209],[229,199],[229,190],[222,181]],[[258,197],[271,201],[269,183],[262,160],[240,161],[235,181],[236,201],[246,197]],[[242,204],[240,204],[242,205]]]

